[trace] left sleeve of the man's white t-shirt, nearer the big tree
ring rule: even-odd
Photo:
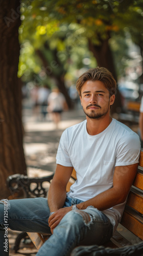
[[[68,139],[67,139],[67,133],[65,130],[60,139],[58,152],[56,154],[56,163],[61,164],[63,166],[71,167],[73,165],[72,165],[70,157],[69,157],[67,145],[68,145]]]

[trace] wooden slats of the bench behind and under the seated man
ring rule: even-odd
[[[70,186],[76,180],[76,173],[73,169],[72,176],[67,184],[67,191],[69,191]],[[136,236],[136,241],[143,240],[143,149],[140,151],[140,159],[137,170],[137,175],[131,187],[128,201],[124,210],[124,214],[121,220],[121,225],[127,228]],[[36,248],[42,246],[42,244],[46,241],[46,238],[40,233],[27,233],[28,236],[33,241]],[[123,237],[118,231],[115,232],[110,241],[105,244],[106,247],[116,248],[123,247],[125,245],[131,246],[132,243],[128,241],[125,237]],[[126,247],[125,247],[126,248]],[[142,250],[143,250],[143,242],[142,242]],[[143,251],[142,251],[143,252]],[[125,251],[124,251],[125,253]],[[126,255],[126,254],[125,254]],[[139,254],[136,254],[139,255]]]

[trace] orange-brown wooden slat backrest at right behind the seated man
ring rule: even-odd
[[[143,240],[143,149],[137,175],[131,187],[121,224]]]

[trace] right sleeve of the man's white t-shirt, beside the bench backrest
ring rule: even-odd
[[[115,166],[131,165],[139,162],[140,140],[136,133],[122,137],[116,148]]]

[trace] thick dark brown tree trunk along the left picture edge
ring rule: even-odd
[[[0,1],[0,187],[1,199],[10,191],[6,179],[11,174],[25,174],[21,121],[21,84],[17,78],[19,61],[18,28],[20,1]]]

